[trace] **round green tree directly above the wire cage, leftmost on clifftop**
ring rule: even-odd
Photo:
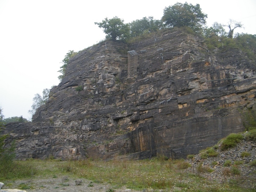
[[[130,36],[129,24],[125,24],[124,20],[118,17],[113,17],[112,19],[106,17],[101,23],[95,22],[95,24],[103,29],[106,38],[111,38],[112,40],[126,40]]]

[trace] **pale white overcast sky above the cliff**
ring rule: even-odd
[[[57,71],[69,50],[105,38],[94,22],[117,16],[129,23],[175,3],[200,4],[207,25],[241,21],[236,32],[256,34],[256,0],[0,0],[0,107],[5,118],[30,119],[32,99],[59,83]]]

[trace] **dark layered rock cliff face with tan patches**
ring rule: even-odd
[[[5,131],[20,159],[184,157],[243,131],[255,66],[239,50],[214,54],[181,31],[102,42],[70,59],[32,123]]]

